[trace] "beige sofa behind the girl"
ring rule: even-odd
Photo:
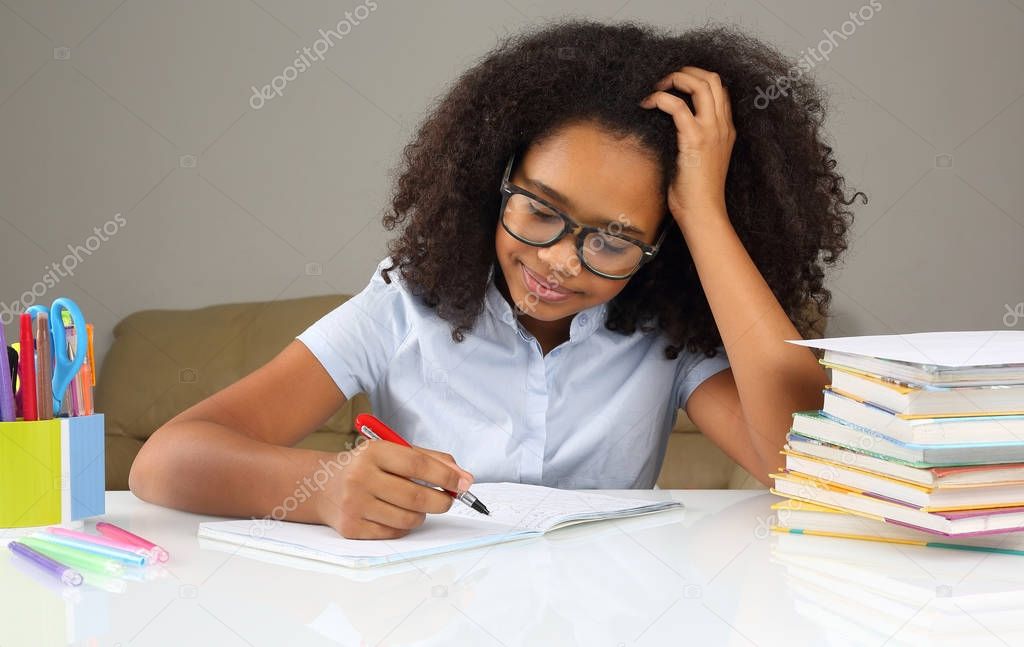
[[[125,317],[96,384],[106,416],[106,487],[127,489],[139,447],[158,427],[202,398],[265,363],[298,333],[348,298],[308,297],[217,305],[197,310],[146,310]],[[299,446],[338,451],[353,440],[352,419],[370,411],[352,398]],[[763,487],[680,412],[660,487]]]

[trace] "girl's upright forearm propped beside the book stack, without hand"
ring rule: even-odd
[[[728,215],[681,224],[729,357],[751,441],[766,471],[778,465],[792,415],[821,406],[824,370],[736,235]]]

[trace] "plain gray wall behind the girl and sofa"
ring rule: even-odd
[[[710,17],[793,56],[831,48],[812,74],[870,202],[830,281],[830,336],[1024,328],[1015,2],[377,0],[260,105],[252,86],[359,4],[0,0],[0,302],[67,263],[44,299],[77,299],[102,355],[135,310],[355,292],[385,253],[401,146],[498,36],[566,14]]]

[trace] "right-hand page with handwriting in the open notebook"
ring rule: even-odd
[[[490,510],[489,517],[484,517],[458,502],[454,503],[445,514],[486,519],[527,530],[547,530],[569,516],[616,512],[641,503],[604,494],[522,483],[479,483],[473,485],[471,491]]]

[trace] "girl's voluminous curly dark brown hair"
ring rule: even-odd
[[[482,310],[497,266],[499,184],[513,150],[573,123],[639,140],[658,161],[663,195],[679,154],[672,117],[639,101],[684,66],[716,72],[732,99],[736,141],[725,185],[730,220],[803,336],[827,314],[824,265],[847,248],[853,204],[821,139],[825,97],[777,49],[733,27],[669,34],[648,25],[569,19],[504,39],[435,102],[402,156],[388,230],[392,263],[459,342]],[[772,86],[788,88],[765,101]],[[760,92],[760,94],[759,94]],[[685,93],[677,93],[692,109]],[[761,97],[759,100],[758,97]],[[766,103],[766,104],[765,104]],[[668,212],[667,212],[668,213]],[[671,217],[671,215],[670,215]],[[459,271],[452,271],[453,267]],[[813,304],[814,307],[808,307]],[[721,336],[679,227],[609,302],[606,328],[659,328],[666,356],[714,356]]]

